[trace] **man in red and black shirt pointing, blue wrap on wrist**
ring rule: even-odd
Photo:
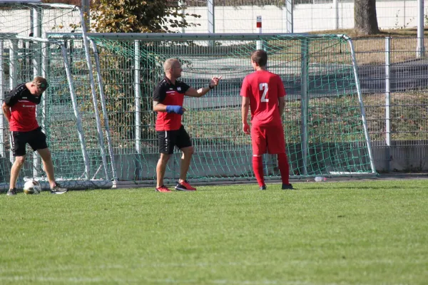
[[[165,78],[163,78],[153,92],[153,110],[158,112],[156,133],[158,134],[159,152],[161,152],[161,157],[156,166],[156,191],[170,192],[168,187],[163,185],[163,177],[165,176],[166,164],[170,155],[173,154],[175,146],[183,152],[180,163],[180,178],[175,186],[175,190],[195,191],[195,187],[192,187],[186,181],[190,159],[194,150],[188,133],[185,131],[183,125],[181,125],[181,115],[185,112],[183,100],[185,95],[190,97],[205,95],[209,90],[218,85],[221,76],[219,78],[212,78],[207,87],[196,90],[177,80],[177,78],[181,77],[181,72],[183,71],[178,59],[167,59],[163,63],[163,70],[165,71]]]

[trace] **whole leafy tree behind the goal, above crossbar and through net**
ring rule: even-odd
[[[98,33],[165,33],[170,28],[194,26],[185,21],[184,16],[200,17],[183,14],[183,6],[178,1],[169,0],[97,0],[91,3],[91,31]],[[139,88],[141,98],[140,119],[141,138],[153,138],[153,124],[156,116],[152,111],[151,94],[153,86],[163,76],[162,64],[165,54],[153,53],[161,42],[141,42],[139,46],[140,66]],[[134,41],[103,41],[98,45],[102,71],[108,120],[112,136],[128,143],[135,143],[135,58]],[[174,48],[170,43],[163,51]],[[91,106],[88,104],[88,108]]]

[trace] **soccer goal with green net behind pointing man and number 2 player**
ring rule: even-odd
[[[49,37],[78,40],[70,33]],[[152,93],[163,78],[166,58],[180,59],[181,79],[195,88],[223,76],[220,86],[203,98],[185,99],[183,125],[196,151],[189,178],[252,180],[239,92],[243,78],[252,72],[250,53],[260,47],[268,53],[268,69],[281,76],[287,90],[282,120],[290,176],[376,173],[355,52],[345,35],[88,33],[88,41],[94,78],[105,99],[117,177],[123,183],[156,180]],[[264,163],[265,175],[278,178],[275,157],[265,155]],[[176,180],[179,165],[176,152],[165,177]]]

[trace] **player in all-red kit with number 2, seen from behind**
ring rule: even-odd
[[[285,88],[280,76],[266,70],[266,64],[265,51],[258,50],[251,54],[251,66],[255,72],[245,76],[240,91],[243,98],[243,132],[251,135],[253,171],[260,190],[266,190],[262,160],[266,152],[277,155],[282,189],[292,190],[281,120],[285,108]],[[248,108],[251,108],[251,130],[247,121]]]

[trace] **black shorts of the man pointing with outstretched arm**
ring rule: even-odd
[[[179,149],[192,146],[189,134],[183,125],[178,130],[158,130],[156,133],[158,133],[159,152],[161,153],[173,154],[175,145]]]

